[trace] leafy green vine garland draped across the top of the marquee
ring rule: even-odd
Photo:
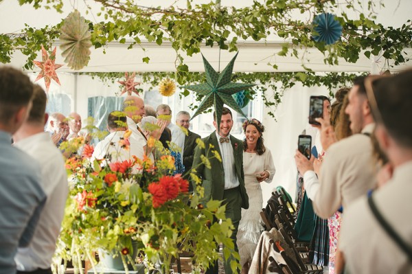
[[[385,28],[375,23],[373,10],[376,5],[381,5],[375,1],[367,1],[366,4],[361,0],[343,1],[345,8],[357,14],[358,18],[349,19],[346,13],[336,17],[343,26],[343,35],[334,45],[312,41],[311,21],[320,12],[341,10],[342,3],[337,1],[266,0],[264,3],[253,1],[244,8],[220,5],[217,8],[214,1],[203,4],[187,1],[187,8],[174,5],[168,8],[143,7],[133,0],[94,1],[101,5],[101,12],[97,15],[102,17],[98,23],[89,23],[95,48],[111,41],[124,43],[129,49],[139,45],[142,39],[158,45],[170,41],[176,50],[176,80],[179,84],[186,83],[188,71],[181,53],[187,56],[198,54],[201,45],[232,52],[238,50],[238,39],[266,41],[269,35],[277,34],[285,41],[278,55],[298,57],[296,49],[316,47],[325,54],[324,62],[330,65],[338,64],[339,58],[356,62],[364,50],[366,56],[382,54],[398,65],[409,60],[403,49],[412,46],[411,21],[398,28]],[[62,0],[19,0],[19,3],[31,4],[35,8],[43,5],[58,12],[61,12],[63,5]],[[366,10],[367,13],[359,10]],[[302,18],[306,21],[295,19],[296,13],[303,14]],[[39,30],[26,27],[20,34],[1,34],[0,62],[10,62],[12,52],[20,50],[29,56],[26,69],[32,68],[35,52],[40,50],[42,43],[49,45],[58,38],[58,30],[58,25]],[[126,42],[130,38],[132,41]],[[143,59],[143,62],[149,62],[148,57]]]

